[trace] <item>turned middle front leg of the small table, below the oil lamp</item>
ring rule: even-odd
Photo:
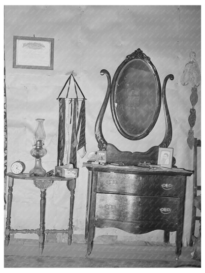
[[[43,252],[45,230],[45,189],[40,190],[39,255]]]

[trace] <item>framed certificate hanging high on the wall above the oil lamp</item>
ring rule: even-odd
[[[13,68],[53,70],[54,38],[13,36]]]

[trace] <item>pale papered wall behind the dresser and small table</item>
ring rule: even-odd
[[[180,77],[191,49],[201,66],[200,6],[5,6],[4,14],[8,171],[12,162],[19,159],[25,162],[26,172],[34,167],[30,150],[36,118],[45,119],[47,154],[42,165],[47,171],[55,167],[59,111],[56,98],[72,70],[87,98],[87,152],[98,150],[94,127],[107,87],[106,77],[100,71],[107,69],[113,77],[118,65],[137,48],[151,58],[161,84],[168,74],[174,75],[174,80],[167,84],[173,129],[170,147],[178,167],[193,168],[193,150],[186,142],[191,87],[180,85]],[[54,70],[12,68],[13,35],[54,38]],[[201,138],[201,86],[198,93],[194,132],[195,137]],[[153,131],[145,139],[133,143],[118,133],[108,105],[102,131],[107,142],[114,143],[119,150],[146,151],[161,143],[164,137],[164,114],[161,111]],[[85,228],[88,172],[82,163],[88,153],[83,159],[78,158],[73,219],[76,238],[83,237]],[[11,227],[38,228],[39,189],[31,181],[16,181],[13,193]],[[69,192],[65,183],[54,182],[46,196],[46,228],[67,228]],[[189,238],[191,202],[192,178],[188,178],[183,243]],[[102,235],[118,236],[118,240],[125,241],[163,241],[162,231],[136,236],[114,228],[96,229],[95,238]],[[171,243],[174,242],[175,233],[171,235]]]

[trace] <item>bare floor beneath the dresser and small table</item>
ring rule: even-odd
[[[201,267],[191,258],[193,247],[182,247],[175,261],[171,245],[94,244],[86,257],[85,243],[46,243],[38,255],[38,240],[15,239],[4,248],[4,268],[173,268]]]

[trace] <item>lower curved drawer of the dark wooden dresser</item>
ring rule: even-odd
[[[97,193],[96,219],[117,221],[178,221],[179,198]]]

